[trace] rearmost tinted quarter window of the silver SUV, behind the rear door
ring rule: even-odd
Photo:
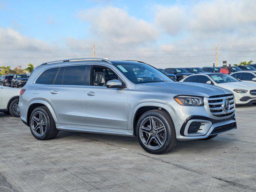
[[[45,70],[35,81],[36,84],[52,85],[59,67]]]

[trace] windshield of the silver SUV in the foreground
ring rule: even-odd
[[[172,82],[170,78],[156,68],[143,64],[114,64],[131,82],[135,84],[150,82]]]

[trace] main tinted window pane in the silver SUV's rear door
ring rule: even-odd
[[[63,85],[84,85],[85,65],[66,66],[63,76]]]

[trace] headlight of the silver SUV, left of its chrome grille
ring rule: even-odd
[[[180,105],[186,106],[203,106],[203,97],[194,96],[175,96],[174,100]]]

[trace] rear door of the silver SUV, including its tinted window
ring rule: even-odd
[[[60,67],[46,94],[59,124],[85,126],[86,65]]]

